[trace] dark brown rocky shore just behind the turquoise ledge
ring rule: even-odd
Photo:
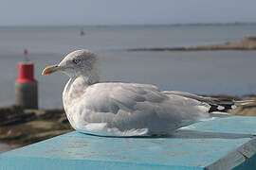
[[[227,95],[218,95],[217,97],[256,101],[256,95],[247,95],[241,98]],[[256,116],[256,103],[227,111],[236,115]],[[18,147],[43,141],[72,130],[64,110],[61,109],[23,110],[15,105],[0,108],[0,143]]]

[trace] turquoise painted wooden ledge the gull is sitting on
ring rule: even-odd
[[[0,155],[0,169],[256,169],[256,117],[232,116],[166,138],[67,133]]]

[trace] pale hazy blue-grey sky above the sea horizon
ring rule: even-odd
[[[256,0],[0,0],[0,26],[256,22]]]

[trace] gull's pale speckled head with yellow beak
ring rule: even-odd
[[[97,58],[89,50],[76,50],[69,53],[56,65],[47,66],[42,75],[49,75],[61,71],[67,76],[91,76],[95,72]]]

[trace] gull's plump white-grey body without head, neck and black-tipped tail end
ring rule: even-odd
[[[208,117],[208,110],[205,103],[162,93],[153,85],[96,83],[69,106],[67,117],[85,133],[136,136],[170,133]]]

